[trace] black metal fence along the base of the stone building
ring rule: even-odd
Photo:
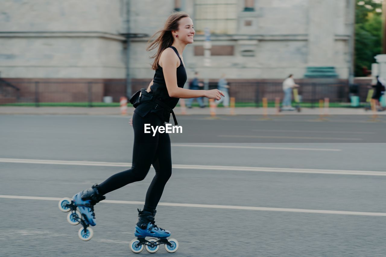
[[[349,96],[358,95],[361,102],[366,101],[367,85],[349,85],[348,83],[298,83],[302,102],[316,105],[320,99],[329,98],[330,102],[349,102]],[[149,82],[133,82],[132,92],[147,88]],[[283,99],[282,83],[274,82],[232,82],[229,83],[229,95],[236,102],[261,103],[262,98],[274,101]],[[210,83],[209,88],[217,88],[217,83]],[[0,79],[0,104],[7,103],[93,103],[103,102],[104,96],[111,96],[113,102],[119,102],[126,96],[125,81],[21,81],[12,84]]]

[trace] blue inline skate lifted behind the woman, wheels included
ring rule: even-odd
[[[91,188],[75,194],[73,199],[65,197],[59,201],[59,210],[71,211],[67,215],[67,221],[71,225],[82,224],[78,236],[83,241],[88,241],[93,237],[94,232],[89,226],[97,225],[94,205],[106,199],[105,196],[99,194],[97,186],[95,184]]]

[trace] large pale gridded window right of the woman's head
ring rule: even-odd
[[[195,0],[195,30],[204,34],[208,27],[213,34],[235,34],[237,0]]]

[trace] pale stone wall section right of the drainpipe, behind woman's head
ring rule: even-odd
[[[275,79],[288,74],[303,78],[308,66],[333,66],[339,79],[349,78],[353,14],[349,1],[256,0],[254,12],[243,12],[242,2],[237,14],[237,33],[211,36],[213,46],[233,46],[234,56],[211,56],[212,66],[205,67],[203,56],[194,54],[194,46],[204,43],[204,37],[196,34],[195,42],[186,46],[183,53],[188,77],[198,70],[205,78],[218,78],[221,73],[234,79]],[[159,8],[170,13],[171,4]],[[146,1],[136,2],[135,9],[131,13],[133,20],[143,20],[149,13]],[[186,1],[185,10],[194,23],[194,1]],[[166,17],[149,16],[152,30],[144,31],[152,35],[163,26]],[[245,21],[250,25],[246,26]],[[139,24],[132,23],[130,30],[142,32],[138,30]],[[134,79],[152,78],[151,60],[145,51],[148,39],[133,39],[130,44],[130,56],[135,56],[130,60]],[[249,56],[245,56],[245,51]]]

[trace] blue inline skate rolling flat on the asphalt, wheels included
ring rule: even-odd
[[[135,224],[134,238],[130,242],[130,250],[134,253],[142,252],[144,248],[150,253],[157,252],[159,245],[164,244],[167,252],[176,252],[178,249],[178,241],[174,238],[166,239],[170,237],[171,233],[168,230],[157,227],[155,225],[154,216],[156,210],[141,211],[138,209],[138,220]],[[152,237],[147,238],[145,237]],[[145,246],[145,247],[144,247]]]

